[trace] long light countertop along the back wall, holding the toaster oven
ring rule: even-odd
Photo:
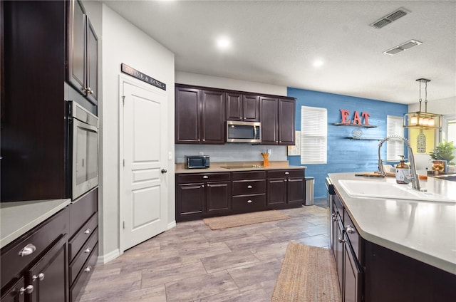
[[[236,172],[249,170],[281,170],[306,169],[304,166],[290,166],[287,160],[269,162],[269,167],[263,167],[263,162],[211,162],[207,169],[185,169],[184,164],[177,163],[175,173],[209,173],[209,172]]]

